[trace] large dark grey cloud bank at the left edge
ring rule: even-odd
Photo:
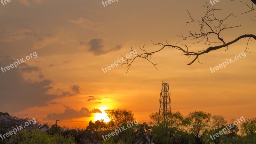
[[[9,56],[0,55],[0,67],[7,66],[15,60]],[[26,68],[26,69],[24,69]],[[32,107],[48,106],[49,102],[65,96],[74,96],[74,92],[63,92],[62,95],[49,94],[53,87],[52,80],[42,81],[25,80],[24,72],[31,72],[38,68],[30,67],[23,63],[17,68],[12,68],[6,72],[0,70],[0,109],[9,113],[20,112]],[[37,72],[37,71],[36,71]],[[40,74],[39,72],[38,74]],[[72,91],[77,92],[78,86],[74,86]]]

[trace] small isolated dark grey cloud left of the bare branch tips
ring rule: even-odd
[[[81,42],[80,42],[81,44]],[[90,52],[93,52],[94,55],[101,55],[101,54],[105,54],[108,52],[112,52],[112,51],[117,51],[119,49],[122,48],[122,45],[117,45],[114,48],[111,48],[109,50],[104,50],[104,45],[103,45],[103,39],[91,39],[87,45],[89,45],[89,50]]]

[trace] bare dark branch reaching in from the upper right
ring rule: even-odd
[[[252,0],[252,2],[255,3],[255,0]],[[244,3],[244,4],[246,4],[246,3]],[[246,4],[246,5],[248,7],[250,7],[248,4]],[[182,53],[185,56],[189,56],[189,57],[190,56],[194,56],[194,59],[191,62],[187,63],[187,65],[191,65],[196,60],[198,60],[198,62],[199,62],[199,59],[198,59],[199,56],[203,55],[203,54],[206,54],[208,52],[211,52],[211,51],[214,51],[214,50],[218,50],[218,49],[221,49],[221,48],[226,48],[226,51],[227,51],[229,45],[235,44],[236,42],[238,42],[239,40],[241,40],[243,38],[248,38],[247,46],[245,48],[245,52],[248,52],[247,51],[247,49],[249,49],[248,48],[248,43],[252,39],[256,40],[256,36],[254,34],[245,34],[245,35],[238,36],[238,37],[234,38],[231,41],[226,41],[226,39],[225,39],[226,37],[222,35],[223,31],[225,31],[227,29],[231,29],[231,28],[233,29],[233,28],[237,28],[237,27],[241,26],[241,25],[235,25],[235,26],[229,26],[228,27],[227,24],[225,23],[225,21],[228,18],[235,17],[235,15],[233,13],[231,13],[231,14],[227,15],[224,19],[220,19],[220,18],[218,18],[217,16],[214,15],[214,12],[215,11],[219,11],[220,9],[215,9],[213,6],[208,5],[207,3],[206,3],[206,6],[204,6],[204,7],[206,8],[206,14],[203,15],[198,20],[194,19],[191,16],[190,12],[188,12],[188,14],[190,16],[190,21],[187,22],[187,24],[189,24],[189,23],[197,23],[199,25],[199,32],[188,31],[188,35],[187,36],[184,36],[181,33],[179,37],[182,38],[181,41],[190,39],[190,40],[196,40],[196,43],[204,42],[205,45],[209,46],[206,50],[201,50],[201,51],[198,51],[198,52],[190,51],[189,50],[190,46],[188,46],[186,44],[181,44],[180,43],[181,41],[179,41],[176,44],[168,44],[168,42],[166,42],[166,44],[162,44],[162,43],[154,43],[152,41],[152,43],[154,45],[159,45],[160,48],[158,50],[156,50],[156,51],[153,51],[153,52],[147,52],[145,50],[145,45],[143,46],[143,48],[140,47],[140,50],[143,51],[141,54],[138,54],[136,57],[134,57],[132,59],[126,59],[126,63],[122,63],[122,64],[127,65],[127,67],[128,67],[127,72],[129,70],[129,68],[131,67],[133,61],[135,59],[138,59],[138,58],[144,58],[144,59],[148,60],[156,68],[157,63],[155,64],[155,63],[151,62],[150,61],[150,57],[154,53],[162,51],[164,48],[177,49],[177,50],[182,51]],[[251,8],[250,11],[255,9],[253,7],[250,7],[250,8]],[[250,11],[247,11],[247,12],[250,12]],[[211,38],[210,38],[210,36],[211,36]],[[219,42],[215,42],[214,38],[215,38],[215,40],[218,40]],[[179,46],[177,44],[179,44]],[[211,44],[219,44],[219,45],[210,46]],[[130,52],[132,52],[132,51],[133,51],[133,49],[131,48]]]

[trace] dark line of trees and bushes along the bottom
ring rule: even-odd
[[[195,111],[190,112],[188,116],[182,116],[180,112],[170,112],[165,115],[165,120],[159,120],[159,113],[156,112],[149,116],[150,122],[148,124],[144,122],[127,128],[127,124],[135,120],[132,111],[115,109],[107,110],[106,113],[110,118],[110,122],[104,123],[103,120],[98,120],[95,123],[90,122],[86,129],[69,129],[60,127],[57,124],[41,124],[37,122],[36,124],[28,125],[17,134],[12,134],[4,140],[0,138],[0,144],[256,143],[256,118],[244,119],[244,117],[238,117],[228,123],[220,115],[212,116],[211,113]],[[24,125],[28,120],[29,118],[10,116],[8,113],[0,112],[0,134],[3,135],[18,125]],[[115,130],[121,130],[121,127],[127,129],[115,135]],[[111,133],[112,135],[109,138],[108,136]]]

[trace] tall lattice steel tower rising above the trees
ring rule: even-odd
[[[158,124],[166,122],[168,114],[171,112],[171,100],[169,93],[169,83],[162,83],[162,91],[160,93],[160,107],[158,115]]]

